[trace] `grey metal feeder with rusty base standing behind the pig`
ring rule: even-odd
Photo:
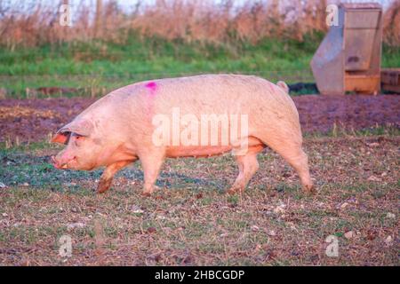
[[[340,4],[332,26],[311,60],[321,94],[380,91],[382,8],[380,4]]]

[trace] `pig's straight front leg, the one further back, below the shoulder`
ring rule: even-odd
[[[164,162],[164,150],[155,149],[139,156],[144,173],[143,195],[150,196],[154,192],[156,179]]]

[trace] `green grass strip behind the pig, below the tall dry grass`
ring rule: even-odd
[[[124,44],[64,43],[0,50],[0,87],[25,98],[27,88],[70,87],[72,95],[103,94],[151,78],[200,73],[260,75],[271,81],[313,82],[309,68],[322,35],[303,42],[265,39],[251,43],[183,43],[132,35]],[[400,49],[383,48],[382,67],[399,67]]]

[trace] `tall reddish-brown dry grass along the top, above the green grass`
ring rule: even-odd
[[[4,0],[0,3],[0,44],[8,49],[43,43],[91,41],[100,38],[124,43],[132,31],[140,36],[160,36],[185,42],[257,43],[266,37],[302,40],[316,31],[324,32],[325,7],[332,1],[251,1],[218,3],[202,0],[138,1],[130,12],[113,0],[97,4],[74,2],[74,25],[61,27],[59,7],[68,0]],[[24,12],[25,11],[25,12]],[[29,12],[26,12],[29,11]],[[400,1],[388,2],[384,15],[384,42],[400,44]]]

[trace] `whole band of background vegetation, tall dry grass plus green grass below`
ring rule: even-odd
[[[11,97],[54,86],[97,95],[199,73],[312,82],[309,61],[326,31],[326,1],[171,0],[138,2],[130,12],[115,1],[82,2],[72,27],[60,26],[60,3],[38,3],[24,4],[31,12],[0,4],[0,86]],[[400,66],[399,9],[393,1],[385,12],[383,67]]]

